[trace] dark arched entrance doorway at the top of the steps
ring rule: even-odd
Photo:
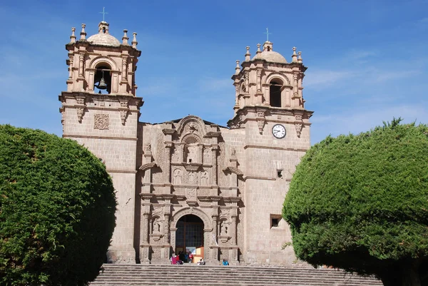
[[[175,254],[193,253],[193,262],[203,257],[204,223],[197,215],[183,215],[177,222],[175,232]],[[183,258],[183,257],[182,257]],[[186,260],[186,259],[184,259]]]

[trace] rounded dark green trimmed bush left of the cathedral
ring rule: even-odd
[[[0,126],[0,284],[86,285],[115,227],[103,163],[75,141]]]

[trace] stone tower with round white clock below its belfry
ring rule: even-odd
[[[290,63],[266,41],[253,58],[248,46],[245,61],[236,61],[235,116],[231,129],[245,133],[245,260],[271,263],[295,260],[291,247],[274,251],[291,242],[290,228],[281,218],[282,203],[292,173],[310,148],[312,111],[305,109],[302,80],[306,67],[301,52],[292,48]],[[270,225],[267,225],[270,222]]]

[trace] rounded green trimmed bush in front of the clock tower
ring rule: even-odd
[[[298,258],[428,285],[428,127],[400,121],[328,136],[302,158],[282,210]]]

